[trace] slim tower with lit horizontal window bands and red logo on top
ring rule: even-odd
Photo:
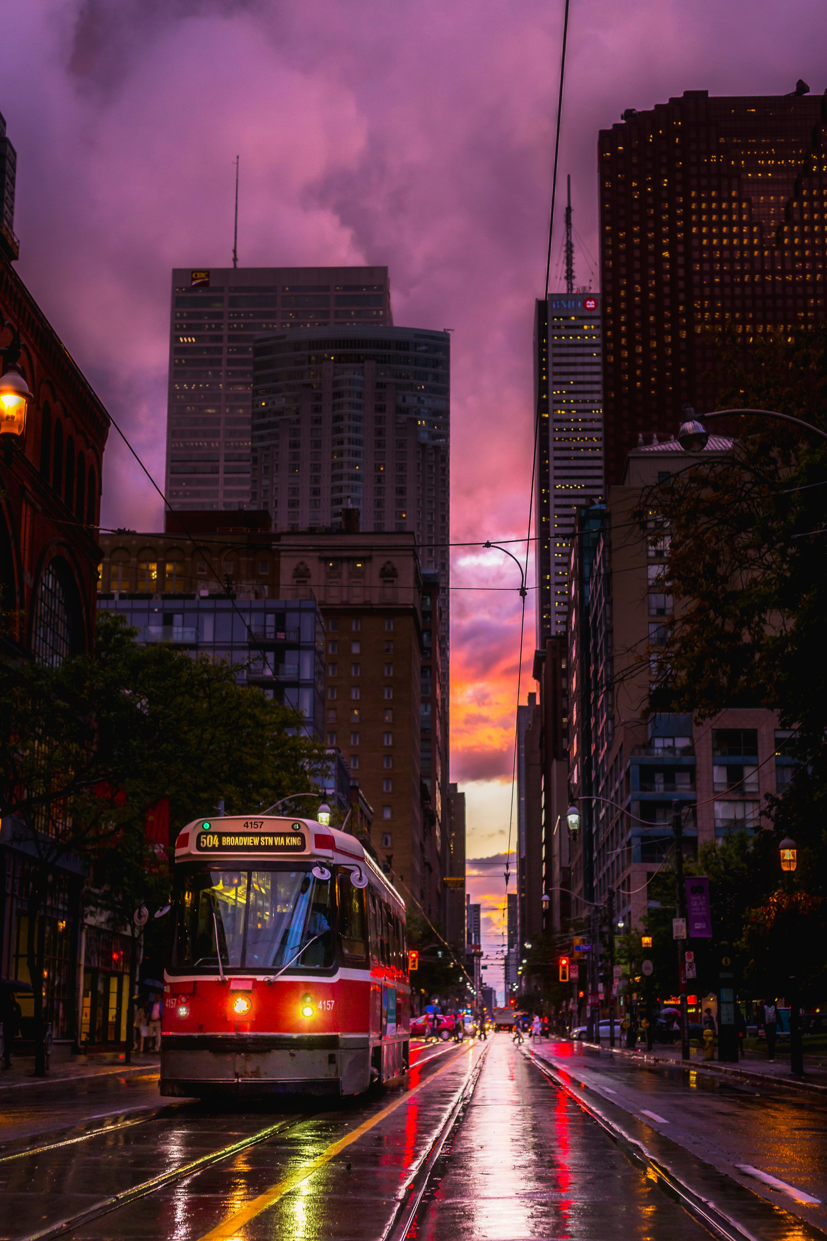
[[[570,262],[570,259],[569,259]],[[537,647],[565,633],[578,506],[603,495],[600,297],[551,293],[534,314]]]

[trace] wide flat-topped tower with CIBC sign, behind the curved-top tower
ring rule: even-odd
[[[172,508],[250,501],[257,333],[392,323],[387,267],[175,268],[166,419]]]

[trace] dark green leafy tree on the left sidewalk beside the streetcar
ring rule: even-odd
[[[98,866],[170,803],[172,839],[213,813],[255,812],[311,789],[321,746],[301,719],[236,669],[167,645],[138,647],[120,617],[102,614],[94,655],[58,666],[0,664],[0,809],[31,855],[27,963],[35,1071],[45,1072],[46,898],[67,855]]]

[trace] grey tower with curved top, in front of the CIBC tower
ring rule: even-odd
[[[450,336],[415,328],[291,328],[257,336],[250,503],[274,530],[412,530],[449,585]],[[448,593],[444,596],[448,601]],[[440,613],[448,685],[448,602]]]

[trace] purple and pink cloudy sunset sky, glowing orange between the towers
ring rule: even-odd
[[[398,324],[455,329],[454,539],[524,534],[562,14],[562,0],[6,0],[19,271],[159,480],[170,268],[228,263],[238,153],[242,263],[387,263]],[[591,254],[601,127],[684,89],[777,94],[803,77],[821,92],[826,27],[823,0],[573,0],[560,171]],[[559,237],[553,269],[558,256]],[[160,511],[113,434],[104,520],[151,529]],[[458,553],[455,583],[512,585],[502,561]],[[485,794],[490,853],[518,599],[453,606],[454,777]],[[529,656],[531,614],[528,633]]]

